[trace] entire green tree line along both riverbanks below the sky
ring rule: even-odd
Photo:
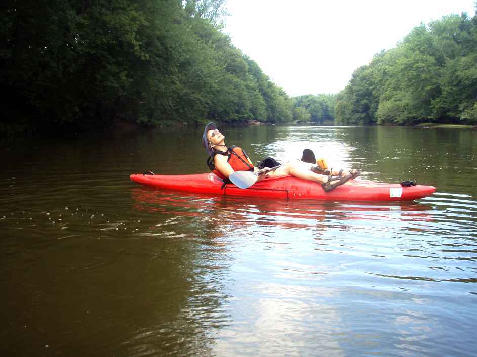
[[[0,135],[124,123],[477,123],[475,16],[417,26],[338,94],[291,98],[222,32],[224,3],[7,0]]]

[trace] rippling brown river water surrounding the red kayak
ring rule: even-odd
[[[201,130],[2,143],[0,355],[471,356],[477,131],[220,127],[254,162],[312,149],[407,203],[163,192]]]

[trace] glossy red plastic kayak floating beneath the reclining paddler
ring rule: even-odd
[[[297,179],[297,177],[290,175],[270,177],[247,189],[240,189],[233,184],[223,186],[222,181],[212,172],[192,175],[132,174],[129,177],[138,184],[163,190],[283,199],[413,201],[430,196],[435,192],[433,186],[402,187],[400,184],[386,184],[360,179],[350,180],[330,192],[325,192],[320,184]]]

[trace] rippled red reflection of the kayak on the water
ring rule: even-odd
[[[139,187],[130,190],[136,204],[135,209],[181,216],[192,216],[202,220],[223,219],[237,226],[259,225],[284,228],[315,227],[326,219],[365,220],[428,220],[424,212],[432,206],[417,202],[390,204],[362,204],[354,202],[328,201],[283,201],[254,198],[204,196],[171,193],[154,188]]]

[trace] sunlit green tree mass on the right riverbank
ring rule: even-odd
[[[336,121],[352,124],[477,122],[477,18],[463,13],[414,28],[396,48],[358,68],[336,96]]]

